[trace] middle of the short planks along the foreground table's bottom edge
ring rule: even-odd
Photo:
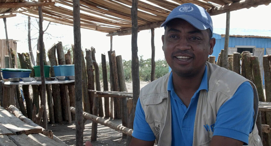
[[[25,134],[8,136],[18,146],[42,146]]]

